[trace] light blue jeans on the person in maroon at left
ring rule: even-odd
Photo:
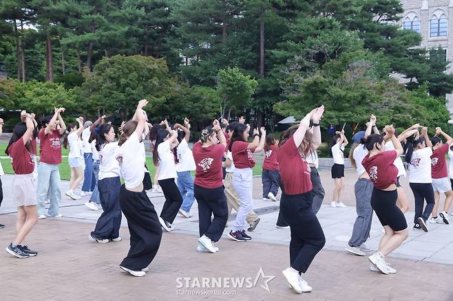
[[[48,214],[55,216],[59,214],[59,205],[61,201],[60,190],[60,170],[59,164],[47,164],[41,162],[38,165],[38,214],[45,213],[45,198],[50,192],[50,207]]]

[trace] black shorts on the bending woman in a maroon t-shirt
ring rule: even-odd
[[[393,231],[401,231],[408,227],[403,212],[397,207],[397,198],[397,190],[372,189],[371,207],[375,210],[381,225],[388,225]]]

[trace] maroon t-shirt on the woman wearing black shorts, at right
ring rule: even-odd
[[[387,150],[370,157],[370,154],[364,157],[361,164],[370,176],[370,180],[375,184],[375,188],[384,190],[388,186],[397,183],[398,168],[394,166],[393,161],[397,159],[396,150]]]

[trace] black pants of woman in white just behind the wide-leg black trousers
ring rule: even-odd
[[[164,221],[173,223],[182,204],[181,192],[176,186],[175,179],[159,180],[160,188],[164,192],[165,203],[160,212],[160,217]]]

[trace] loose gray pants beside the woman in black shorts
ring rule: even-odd
[[[354,186],[355,192],[355,210],[357,211],[357,219],[355,219],[352,236],[349,240],[351,247],[358,247],[365,243],[370,237],[372,208],[371,208],[371,193],[372,182],[369,179],[358,179]]]

